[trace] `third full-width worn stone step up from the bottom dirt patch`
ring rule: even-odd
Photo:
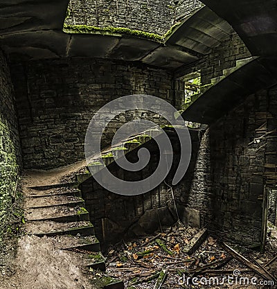
[[[42,198],[26,198],[25,207],[30,208],[44,208],[52,206],[84,206],[84,200],[80,197],[72,195],[49,195]]]

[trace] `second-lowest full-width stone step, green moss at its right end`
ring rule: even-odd
[[[27,221],[53,220],[55,222],[88,221],[89,212],[84,207],[53,206],[26,210]]]

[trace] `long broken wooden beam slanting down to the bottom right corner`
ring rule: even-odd
[[[242,256],[240,253],[236,252],[235,249],[229,247],[229,245],[222,243],[222,248],[231,256],[233,256],[235,259],[240,261],[243,265],[246,265],[248,268],[256,272],[260,277],[270,280],[270,281],[276,281],[276,279],[269,274],[264,268],[260,268],[259,266],[253,264],[251,261],[247,260],[244,256]]]

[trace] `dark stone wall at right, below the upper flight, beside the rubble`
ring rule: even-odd
[[[276,89],[258,91],[202,137],[184,206],[222,240],[261,242],[264,187],[276,184]]]

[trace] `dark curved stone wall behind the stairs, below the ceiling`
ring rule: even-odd
[[[12,66],[12,79],[25,168],[48,169],[84,159],[89,122],[110,100],[150,94],[176,107],[184,100],[184,85],[176,85],[170,73],[109,60],[76,58],[17,64]],[[111,121],[102,137],[103,146],[123,123],[142,114],[127,112]],[[150,119],[164,123],[159,115]]]

